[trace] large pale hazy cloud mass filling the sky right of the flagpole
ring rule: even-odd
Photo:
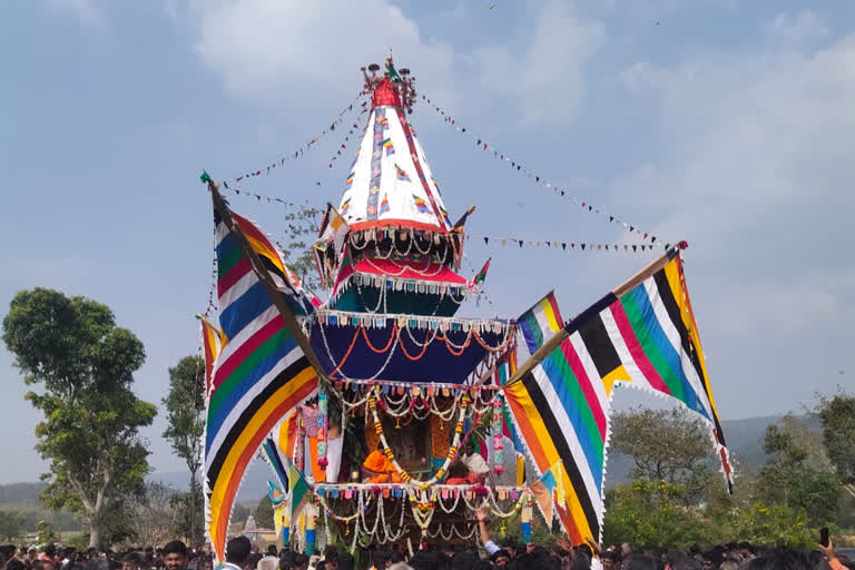
[[[700,326],[737,360],[746,346],[793,346],[794,334],[838,342],[829,330],[855,320],[855,35],[639,62],[621,78],[649,98],[664,144],[615,180],[613,199],[660,219],[657,235],[688,239]]]

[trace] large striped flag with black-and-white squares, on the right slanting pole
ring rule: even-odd
[[[571,541],[600,540],[610,397],[616,382],[668,395],[706,419],[731,485],[730,463],[679,252],[610,293],[558,333],[560,345],[505,387],[514,422],[540,473],[562,461]]]

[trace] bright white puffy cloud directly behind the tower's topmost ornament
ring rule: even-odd
[[[424,40],[386,0],[235,0],[199,9],[197,50],[242,96],[287,101],[294,90],[355,95],[360,67],[382,65],[390,48],[419,82],[452,85],[451,47]]]

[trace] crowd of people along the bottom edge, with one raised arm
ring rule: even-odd
[[[483,517],[478,517],[483,550],[450,544],[424,546],[412,556],[403,549],[365,552],[363,567],[372,570],[855,570],[855,562],[837,556],[834,544],[817,544],[814,551],[755,548],[747,542],[707,551],[636,552],[629,544],[600,549],[596,544],[573,547],[559,539],[549,549],[514,540],[494,542]],[[228,541],[226,560],[217,570],[354,570],[348,552],[327,547],[322,556],[291,549],[267,548],[262,553],[246,537]],[[163,548],[126,551],[73,548],[43,549],[0,547],[1,570],[213,570],[212,558],[202,547],[188,548],[174,540]]]

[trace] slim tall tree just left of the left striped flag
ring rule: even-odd
[[[202,468],[202,436],[205,433],[205,361],[200,356],[185,356],[169,368],[169,394],[163,403],[167,420],[164,438],[190,473],[187,502],[189,537],[193,542],[202,542],[196,518],[197,505],[202,504],[202,489],[196,474]]]

